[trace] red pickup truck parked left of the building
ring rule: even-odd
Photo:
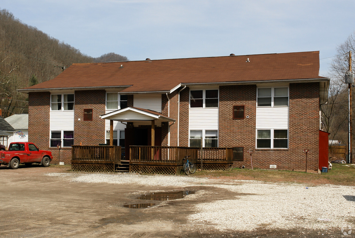
[[[0,154],[0,165],[3,164],[12,169],[18,168],[20,164],[31,165],[33,163],[48,167],[53,159],[50,151],[40,150],[31,142],[12,142],[9,150],[1,151]]]

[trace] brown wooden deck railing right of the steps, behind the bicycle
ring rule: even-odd
[[[191,155],[190,161],[200,160],[200,148],[181,146],[130,146],[132,162],[173,162],[181,163],[184,156]],[[233,161],[232,148],[203,148],[203,161]]]

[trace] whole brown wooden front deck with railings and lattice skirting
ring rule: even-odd
[[[190,162],[197,168],[202,165],[203,170],[227,170],[233,164],[232,148],[203,148],[201,164],[200,148],[130,146],[129,172],[182,174],[182,159],[187,155],[190,155]],[[72,146],[73,171],[113,172],[124,162],[121,161],[121,146]]]

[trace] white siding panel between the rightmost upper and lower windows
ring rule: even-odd
[[[288,129],[288,107],[257,107],[256,128]]]

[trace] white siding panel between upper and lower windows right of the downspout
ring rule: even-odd
[[[189,129],[218,130],[218,108],[190,108]]]

